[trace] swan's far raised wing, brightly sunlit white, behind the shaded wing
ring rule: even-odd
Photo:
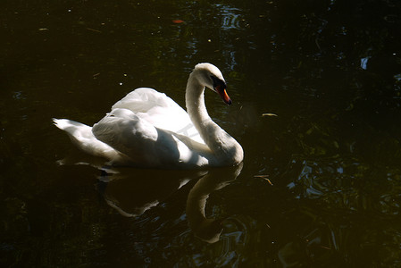
[[[112,110],[123,108],[135,113],[156,128],[184,135],[200,143],[200,138],[188,113],[170,97],[152,88],[137,88],[115,103]]]

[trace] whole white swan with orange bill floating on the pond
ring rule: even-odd
[[[237,165],[244,158],[242,147],[208,115],[205,88],[231,104],[221,71],[199,63],[187,83],[188,113],[155,89],[137,88],[93,128],[66,119],[53,121],[80,149],[116,165],[168,169]]]

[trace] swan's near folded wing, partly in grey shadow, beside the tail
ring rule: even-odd
[[[93,126],[92,132],[97,139],[128,155],[139,166],[167,167],[180,163],[175,138],[128,109],[113,109]]]

